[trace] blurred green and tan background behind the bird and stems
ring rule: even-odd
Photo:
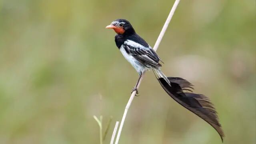
[[[138,74],[105,29],[125,18],[152,47],[174,0],[0,0],[0,144],[110,142]],[[181,0],[158,54],[167,76],[210,97],[224,144],[255,144],[254,0]],[[220,144],[147,72],[120,144]]]

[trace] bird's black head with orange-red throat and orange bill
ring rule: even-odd
[[[117,34],[134,34],[135,30],[128,20],[125,19],[117,19],[114,20],[110,25],[106,26],[106,28],[112,28]]]

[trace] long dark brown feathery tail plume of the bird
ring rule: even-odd
[[[218,132],[223,142],[224,132],[210,99],[202,94],[193,93],[193,85],[183,78],[168,77],[168,80],[171,86],[164,78],[158,78],[161,86],[176,102],[208,122]],[[189,92],[184,92],[184,90]]]

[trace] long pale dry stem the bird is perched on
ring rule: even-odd
[[[156,40],[156,44],[154,45],[154,48],[153,48],[153,49],[154,49],[155,51],[157,50],[157,48],[158,48],[158,46],[159,46],[159,44],[160,44],[160,42],[161,42],[161,40],[162,40],[162,38],[163,38],[163,36],[164,36],[164,33],[166,32],[166,29],[167,29],[167,27],[168,27],[168,25],[169,25],[169,23],[170,23],[170,21],[171,21],[171,19],[172,19],[172,16],[173,16],[173,14],[174,14],[174,12],[175,12],[175,10],[176,10],[176,8],[177,8],[179,2],[180,2],[180,0],[176,0],[176,1],[174,2],[174,5],[172,6],[172,9],[171,9],[171,11],[170,11],[170,14],[168,15],[168,17],[167,17],[167,19],[166,19],[166,22],[164,23],[164,26],[163,26],[163,28],[162,28],[162,30],[161,30],[159,36],[158,36],[158,39]],[[139,81],[139,84],[138,84],[138,87],[137,87],[137,88],[139,88],[140,83],[141,83],[141,81],[142,81],[142,79],[143,79],[143,76],[144,76],[144,74],[142,74],[142,77],[141,77],[141,79],[140,79],[140,81]],[[116,136],[116,142],[115,142],[115,144],[118,144],[118,141],[119,141],[119,138],[120,138],[120,134],[121,134],[121,132],[122,132],[122,128],[123,128],[123,125],[124,125],[124,120],[125,120],[125,118],[126,118],[126,114],[127,114],[128,109],[129,109],[129,107],[130,107],[130,105],[131,105],[131,103],[132,103],[132,100],[134,99],[135,94],[136,94],[136,91],[133,91],[133,92],[132,92],[132,95],[130,96],[130,99],[129,99],[129,101],[128,101],[126,107],[125,107],[124,114],[123,114],[123,117],[122,117],[122,121],[121,121],[121,123],[120,123],[120,127],[119,127],[119,130],[118,130],[117,136]]]

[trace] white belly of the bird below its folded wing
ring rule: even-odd
[[[138,62],[138,60],[136,60],[133,56],[131,56],[130,54],[127,54],[127,52],[125,51],[123,46],[120,47],[120,51],[122,52],[124,58],[126,58],[126,60],[128,62],[130,62],[130,64],[132,64],[132,66],[135,68],[135,70],[138,73],[144,72],[146,70],[149,70],[149,68],[147,68],[147,67],[143,66],[142,64],[140,64],[140,62]]]

